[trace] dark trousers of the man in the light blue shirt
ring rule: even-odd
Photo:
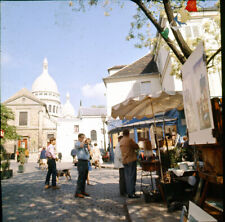
[[[85,183],[88,175],[88,160],[78,160],[78,179],[76,194],[85,192]]]

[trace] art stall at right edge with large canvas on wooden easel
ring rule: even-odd
[[[197,151],[198,182],[188,218],[223,221],[222,98],[210,98],[203,43],[183,65],[182,77],[188,142]],[[211,219],[202,219],[200,211]]]

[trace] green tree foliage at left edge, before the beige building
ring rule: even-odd
[[[16,127],[8,124],[8,121],[10,120],[14,120],[13,111],[4,104],[1,104],[1,129],[4,130],[4,138],[2,138],[2,143],[4,143],[7,139],[16,140],[20,138],[16,132]]]

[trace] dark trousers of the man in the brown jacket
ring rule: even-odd
[[[127,194],[133,195],[135,194],[135,185],[137,178],[137,162],[134,161],[128,164],[124,164],[124,174]]]

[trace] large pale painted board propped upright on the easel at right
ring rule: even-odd
[[[184,112],[189,144],[213,144],[214,128],[209,82],[201,42],[182,66]]]

